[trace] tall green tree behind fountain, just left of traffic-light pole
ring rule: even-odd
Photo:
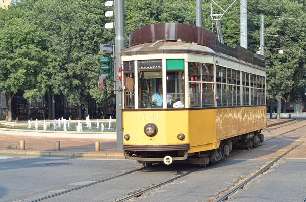
[[[29,20],[48,35],[50,60],[40,75],[45,91],[61,95],[79,105],[81,100],[104,100],[97,90],[99,77],[99,45],[111,43],[114,31],[103,26],[106,7],[98,0],[21,1]]]

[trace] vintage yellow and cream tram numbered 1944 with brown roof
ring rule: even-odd
[[[152,24],[130,35],[123,63],[123,150],[150,164],[208,164],[263,142],[263,56],[203,28]],[[166,96],[165,96],[166,95]]]

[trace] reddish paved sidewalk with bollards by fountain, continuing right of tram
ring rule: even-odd
[[[284,124],[295,119],[267,120],[267,127]],[[20,150],[20,141],[25,141],[25,150]],[[60,151],[55,151],[60,141]],[[100,151],[95,151],[95,142],[100,142]],[[11,149],[10,149],[11,148]],[[59,137],[30,137],[0,134],[0,156],[35,156],[65,158],[124,159],[123,151],[117,151],[115,139],[81,139]]]

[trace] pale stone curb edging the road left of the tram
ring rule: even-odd
[[[0,150],[0,156],[125,159],[123,152],[61,152],[61,151],[57,152],[57,151]]]

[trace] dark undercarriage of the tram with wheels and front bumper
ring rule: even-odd
[[[179,151],[127,151],[124,150],[126,159],[134,159],[138,163],[151,165],[152,163],[164,162],[170,165],[174,161],[181,163],[191,163],[207,165],[210,162],[216,162],[230,155],[233,147],[240,149],[250,149],[258,146],[264,141],[264,135],[261,130],[246,133],[236,137],[224,139],[220,142],[218,149],[188,153],[188,150]]]

